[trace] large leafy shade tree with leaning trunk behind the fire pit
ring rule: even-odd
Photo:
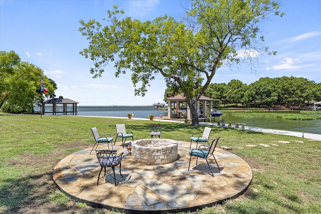
[[[281,14],[278,2],[271,0],[199,0],[186,8],[180,21],[167,15],[146,22],[121,18],[124,12],[116,6],[107,11],[106,26],[80,20],[79,31],[90,41],[80,54],[94,62],[94,78],[111,62],[116,77],[130,70],[135,95],[144,96],[161,74],[168,86],[183,91],[192,125],[198,125],[197,100],[217,69],[243,59],[255,63],[255,53],[270,53],[261,43],[259,24]]]

